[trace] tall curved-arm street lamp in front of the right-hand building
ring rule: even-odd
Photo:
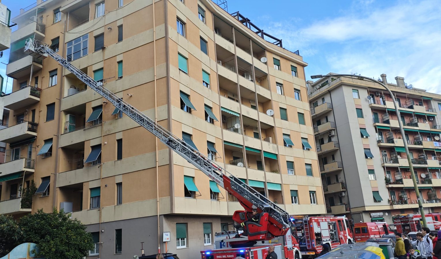
[[[401,133],[401,136],[405,136],[404,128],[403,128],[403,122],[401,122],[401,120],[400,120],[400,118],[401,118],[400,110],[398,110],[398,105],[396,104],[396,100],[395,100],[395,97],[394,97],[392,91],[385,84],[383,84],[382,82],[377,81],[375,79],[372,79],[372,78],[368,78],[368,77],[361,76],[361,75],[353,75],[353,74],[329,74],[329,75],[318,74],[318,75],[311,76],[311,79],[317,79],[317,78],[323,78],[323,77],[363,78],[363,79],[366,79],[366,80],[369,80],[369,81],[373,81],[373,82],[383,86],[389,92],[390,96],[392,96],[393,106],[395,106],[395,112],[396,112],[396,116],[398,118],[397,119],[398,120],[398,124],[400,125],[400,133]],[[419,207],[419,212],[421,214],[422,223],[423,223],[423,225],[425,227],[427,227],[426,217],[424,216],[424,209],[422,207],[421,197],[419,195],[419,189],[418,189],[418,185],[417,185],[416,178],[415,178],[415,172],[414,172],[413,166],[412,166],[412,159],[411,159],[411,156],[409,154],[409,148],[407,147],[407,141],[403,141],[403,142],[404,142],[404,149],[406,150],[407,161],[409,163],[409,169],[411,170],[411,177],[412,177],[412,181],[413,181],[414,188],[415,188],[416,199],[418,200],[418,207]]]

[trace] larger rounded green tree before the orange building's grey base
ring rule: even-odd
[[[82,258],[93,249],[92,235],[77,219],[69,218],[63,210],[56,208],[52,213],[26,215],[20,219],[20,227],[25,235],[24,242],[37,244],[39,256],[48,259]]]

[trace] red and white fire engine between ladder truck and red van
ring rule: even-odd
[[[298,239],[302,255],[314,257],[322,250],[323,243],[331,248],[340,244],[351,244],[354,238],[346,217],[292,216],[293,233]]]

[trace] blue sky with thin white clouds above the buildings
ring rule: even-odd
[[[216,1],[216,0],[215,0]],[[35,0],[2,0],[11,11]],[[387,74],[441,94],[441,5],[437,0],[228,0],[240,13],[299,50],[313,74]],[[268,4],[270,3],[270,4]],[[0,62],[6,62],[8,51]],[[0,74],[6,66],[0,63]],[[6,78],[6,77],[5,77]],[[6,79],[5,79],[6,81]],[[9,84],[11,79],[9,79]]]

